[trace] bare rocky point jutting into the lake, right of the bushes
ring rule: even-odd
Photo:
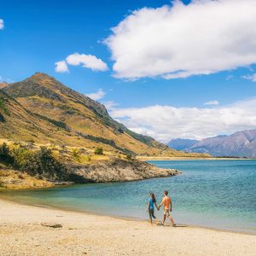
[[[107,183],[142,180],[152,177],[170,177],[177,175],[176,169],[161,169],[139,160],[102,160],[91,165],[68,166],[76,177],[84,178],[87,182]]]

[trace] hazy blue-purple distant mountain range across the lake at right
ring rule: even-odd
[[[217,136],[202,139],[173,139],[169,147],[186,152],[207,153],[213,156],[236,156],[256,158],[256,129],[237,131],[230,136]]]

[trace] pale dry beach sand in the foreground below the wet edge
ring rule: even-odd
[[[55,222],[62,228],[42,226]],[[256,255],[256,236],[0,200],[0,255]]]

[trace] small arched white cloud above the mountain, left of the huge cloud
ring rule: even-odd
[[[98,59],[95,55],[80,55],[79,53],[74,53],[73,55],[68,55],[66,61],[69,65],[82,65],[82,67],[90,68],[93,71],[108,70],[107,64],[101,59]]]

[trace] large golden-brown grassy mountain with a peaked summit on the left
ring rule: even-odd
[[[0,90],[1,91],[1,90]],[[130,131],[106,108],[44,73],[2,88],[9,115],[0,122],[2,138],[111,152],[164,156],[188,155]],[[196,156],[196,155],[195,155]]]

